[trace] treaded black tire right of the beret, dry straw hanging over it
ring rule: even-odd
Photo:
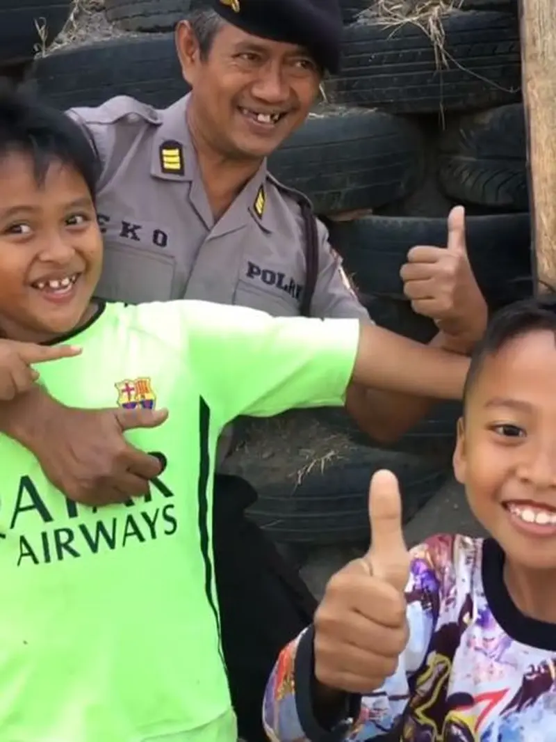
[[[391,113],[468,111],[511,103],[521,86],[519,24],[509,13],[443,16],[446,65],[414,23],[396,28],[362,17],[345,27],[342,72],[325,81],[328,100]]]

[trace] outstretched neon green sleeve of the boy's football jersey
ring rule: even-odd
[[[344,404],[359,345],[357,320],[275,318],[203,301],[133,309],[139,326],[183,354],[222,425],[294,407]]]

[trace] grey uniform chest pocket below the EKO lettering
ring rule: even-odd
[[[131,304],[168,301],[176,296],[173,255],[145,247],[107,245],[96,295]]]

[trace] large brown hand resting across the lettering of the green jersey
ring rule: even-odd
[[[77,410],[36,387],[0,408],[1,430],[31,450],[59,490],[84,505],[145,495],[162,464],[132,446],[126,430],[157,427],[166,410]]]

